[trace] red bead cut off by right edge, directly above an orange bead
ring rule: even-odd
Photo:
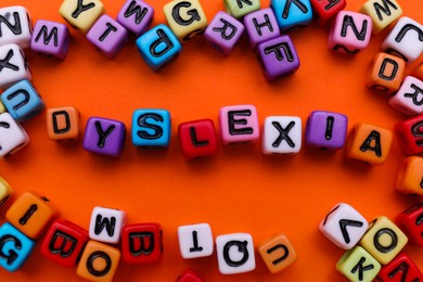
[[[396,124],[395,133],[406,155],[416,155],[423,152],[423,115]]]

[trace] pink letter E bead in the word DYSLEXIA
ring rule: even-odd
[[[223,106],[219,111],[219,123],[223,144],[256,142],[260,137],[254,105]]]

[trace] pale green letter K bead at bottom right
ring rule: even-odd
[[[336,269],[349,281],[373,281],[381,264],[361,246],[347,251],[336,262]]]

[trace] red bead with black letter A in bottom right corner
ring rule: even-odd
[[[402,253],[383,266],[377,278],[383,282],[414,282],[422,281],[423,274],[410,257]]]

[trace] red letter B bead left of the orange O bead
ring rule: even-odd
[[[76,264],[88,241],[88,231],[67,221],[55,220],[41,243],[41,254],[65,267]]]

